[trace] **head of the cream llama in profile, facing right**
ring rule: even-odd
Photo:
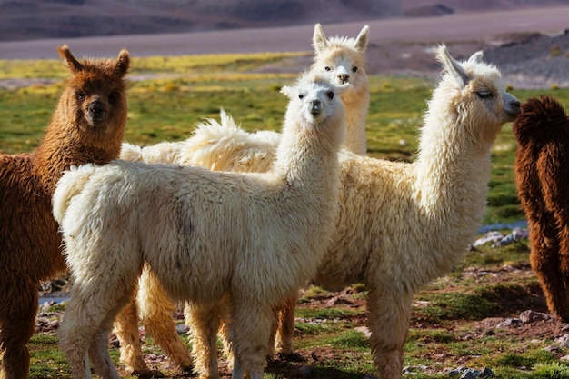
[[[505,91],[500,71],[482,61],[482,52],[458,62],[441,45],[436,57],[444,65],[444,75],[428,113],[445,117],[447,125],[461,125],[463,130],[456,133],[472,135],[488,148],[502,125],[520,114],[520,101]]]

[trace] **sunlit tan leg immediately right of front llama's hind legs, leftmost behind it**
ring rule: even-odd
[[[137,291],[136,291],[137,292]],[[151,370],[145,363],[138,333],[138,308],[135,298],[116,316],[114,332],[121,346],[121,362],[126,372],[141,378],[163,377],[158,370]]]

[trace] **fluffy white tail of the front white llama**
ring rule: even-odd
[[[55,221],[62,224],[71,199],[80,194],[89,178],[95,173],[96,165],[72,166],[59,179],[52,197]]]

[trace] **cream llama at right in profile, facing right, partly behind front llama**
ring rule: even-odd
[[[365,284],[372,355],[383,379],[402,375],[414,293],[449,272],[474,239],[486,204],[490,149],[502,125],[520,113],[520,102],[505,92],[499,70],[482,58],[477,52],[457,62],[444,45],[439,47],[444,75],[428,103],[413,163],[345,150],[339,155],[339,215],[333,243],[313,279],[333,289]],[[231,157],[220,154],[233,151],[225,144],[235,141],[210,139],[220,132],[217,126],[211,134],[208,129],[196,131],[195,145],[203,148],[194,156],[210,162],[210,168],[215,163],[215,169],[224,169]],[[245,149],[247,141],[236,146]],[[280,328],[289,331],[281,334],[290,339],[295,304],[293,294],[281,309],[286,324]],[[186,307],[190,319],[194,308]],[[210,327],[195,334],[214,335],[215,324]],[[282,344],[292,346],[291,341]],[[200,362],[215,363],[196,357],[195,364]]]

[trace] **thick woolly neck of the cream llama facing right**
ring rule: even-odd
[[[444,115],[430,114],[425,119],[420,153],[414,163],[414,197],[424,215],[424,233],[437,235],[434,248],[454,264],[458,253],[474,237],[485,211],[490,174],[490,146],[481,148],[470,127],[451,125]],[[472,126],[472,125],[471,125]],[[484,125],[479,125],[483,127]],[[441,247],[444,246],[444,247]],[[453,259],[454,258],[454,259]],[[425,267],[444,259],[425,262]],[[444,267],[446,269],[447,267]]]

